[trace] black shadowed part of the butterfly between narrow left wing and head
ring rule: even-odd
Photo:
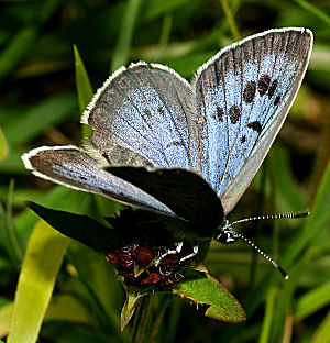
[[[123,166],[106,170],[153,196],[177,215],[196,223],[201,235],[212,236],[213,230],[222,223],[220,199],[210,185],[193,172]]]

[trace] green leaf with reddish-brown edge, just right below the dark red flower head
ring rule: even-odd
[[[239,301],[207,270],[204,276],[196,270],[185,273],[185,280],[173,288],[173,294],[197,305],[208,305],[207,317],[231,323],[245,320],[245,312]]]

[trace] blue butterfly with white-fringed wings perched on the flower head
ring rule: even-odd
[[[219,242],[245,240],[226,215],[285,121],[312,41],[299,27],[252,35],[221,49],[190,84],[160,64],[121,67],[82,114],[89,141],[34,148],[24,165],[57,184],[195,223]]]

